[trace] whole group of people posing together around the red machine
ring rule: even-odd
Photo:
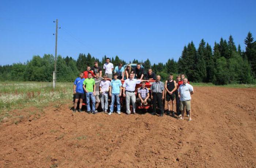
[[[176,100],[176,112],[178,119],[184,119],[185,107],[189,121],[191,121],[191,94],[193,94],[193,87],[188,83],[185,75],[178,75],[177,82],[173,80],[173,74],[170,74],[169,79],[165,84],[161,81],[160,75],[155,75],[152,69],[149,69],[144,74],[144,69],[140,64],[137,64],[133,69],[130,64],[124,69],[123,64],[119,63],[114,68],[110,63],[110,59],[106,59],[103,65],[105,74],[102,76],[102,68],[98,66],[95,61],[94,67],[87,67],[87,70],[80,73],[80,76],[74,82],[74,111],[76,112],[78,101],[80,101],[78,112],[82,112],[83,99],[86,98],[87,112],[97,113],[99,104],[103,112],[111,115],[114,112],[114,104],[117,104],[117,113],[121,114],[120,97],[125,98],[126,113],[131,114],[130,101],[132,101],[132,113],[136,114],[136,105],[147,105],[153,103],[152,115],[157,115],[157,108],[159,109],[160,116],[163,116],[163,100],[167,100],[168,112],[167,114],[175,115],[174,113],[174,100]],[[112,73],[114,70],[114,74]],[[126,77],[126,80],[124,80]],[[136,78],[135,78],[136,77]],[[146,80],[144,80],[144,78]],[[151,85],[151,96],[149,89],[146,88],[146,82],[155,80]],[[124,81],[123,84],[121,81]],[[142,87],[138,88],[138,97],[136,98],[136,84],[142,83]],[[166,95],[165,95],[166,91]],[[85,94],[84,94],[85,93]],[[108,112],[108,99],[111,97],[110,110]],[[90,100],[92,108],[90,107]],[[171,110],[172,103],[172,110]]]

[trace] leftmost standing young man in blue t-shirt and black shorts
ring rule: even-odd
[[[75,103],[74,103],[74,110],[73,110],[74,113],[76,112],[76,107],[79,99],[80,99],[80,104],[79,104],[78,112],[82,112],[82,104],[84,99],[83,76],[84,76],[83,72],[80,72],[80,77],[76,78],[74,82],[74,87],[73,87],[73,91],[75,95]]]

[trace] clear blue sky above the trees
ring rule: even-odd
[[[151,63],[178,60],[190,41],[203,38],[212,47],[232,35],[245,49],[251,31],[256,39],[256,0],[81,0],[0,2],[0,64],[24,63],[33,55],[91,53],[102,59]]]

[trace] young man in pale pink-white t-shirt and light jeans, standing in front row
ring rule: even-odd
[[[108,94],[109,94],[109,86],[110,81],[107,80],[108,76],[104,75],[103,80],[99,84],[99,92],[101,94],[101,108],[105,113],[108,113]],[[104,103],[105,100],[105,103]]]

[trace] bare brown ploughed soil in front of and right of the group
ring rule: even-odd
[[[51,106],[0,125],[0,167],[256,167],[255,95],[195,87],[191,122]]]

